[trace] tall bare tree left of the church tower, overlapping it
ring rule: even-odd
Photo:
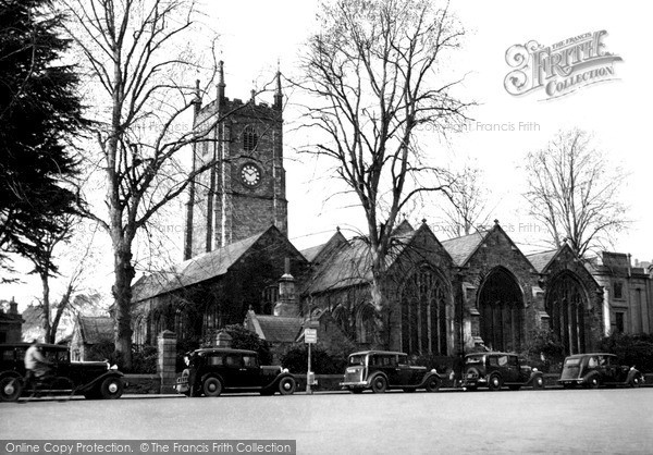
[[[131,299],[134,242],[152,217],[184,192],[207,162],[193,172],[180,155],[210,140],[213,119],[202,130],[189,126],[200,97],[217,73],[214,37],[207,44],[212,64],[202,65],[196,49],[198,10],[193,0],[63,0],[69,33],[81,49],[94,85],[95,132],[103,173],[107,216],[88,212],[110,235],[113,250],[115,349],[132,365]],[[200,89],[187,84],[204,74]],[[206,127],[204,127],[206,126]]]

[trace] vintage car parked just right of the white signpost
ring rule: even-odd
[[[440,384],[441,378],[435,370],[408,365],[408,355],[404,353],[366,351],[349,355],[340,385],[352,393],[361,393],[366,389],[383,393],[389,389],[435,392]]]

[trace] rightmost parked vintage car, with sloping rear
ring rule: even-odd
[[[577,385],[595,389],[601,385],[638,388],[644,377],[634,367],[619,365],[614,354],[594,353],[569,356],[563,364],[558,383],[565,389]]]

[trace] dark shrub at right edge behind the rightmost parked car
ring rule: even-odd
[[[624,365],[653,372],[653,334],[613,333],[601,340],[599,349],[615,354]]]

